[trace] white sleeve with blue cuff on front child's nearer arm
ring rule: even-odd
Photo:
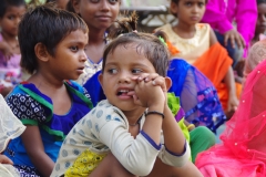
[[[130,173],[137,176],[149,175],[153,169],[161,144],[156,145],[144,132],[134,139],[129,133],[123,113],[117,108],[100,106],[92,114],[94,115],[92,116],[92,124],[95,127],[92,128],[94,136],[111,149]]]

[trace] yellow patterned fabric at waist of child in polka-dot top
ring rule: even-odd
[[[65,171],[65,177],[88,177],[92,170],[103,160],[106,154],[99,155],[89,149],[84,150]]]

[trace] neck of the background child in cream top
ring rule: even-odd
[[[173,27],[173,30],[183,39],[192,39],[196,33],[196,25],[178,22],[175,27]]]

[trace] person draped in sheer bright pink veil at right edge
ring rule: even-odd
[[[196,166],[204,177],[266,176],[265,60],[264,40],[248,52],[241,104],[221,135],[223,144],[196,158]]]

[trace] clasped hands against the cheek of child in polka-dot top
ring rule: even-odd
[[[163,77],[160,77],[157,76],[154,81],[162,82]],[[140,80],[136,80],[137,83],[133,95],[134,102],[143,107],[164,106],[166,101],[164,92],[161,86],[154,86],[154,81],[150,79],[140,77]]]

